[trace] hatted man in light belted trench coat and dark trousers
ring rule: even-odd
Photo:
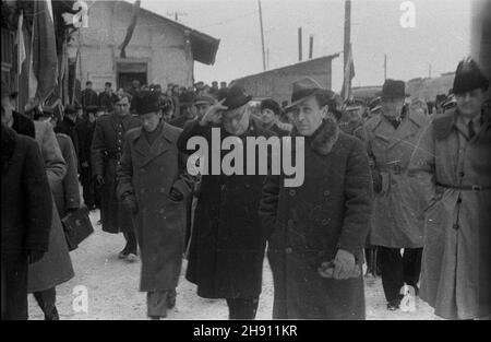
[[[381,113],[366,122],[375,190],[370,243],[378,246],[387,309],[396,310],[404,284],[418,293],[424,208],[418,181],[407,168],[428,116],[407,110],[403,81],[386,80],[380,95]]]

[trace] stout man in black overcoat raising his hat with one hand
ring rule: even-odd
[[[188,148],[188,141],[203,137],[212,155],[213,134],[218,131],[219,141],[229,137],[241,141],[243,169],[252,162],[258,168],[258,156],[254,161],[247,158],[247,146],[254,143],[247,138],[267,139],[273,133],[251,119],[251,98],[240,85],[231,86],[227,96],[209,107],[202,118],[187,123],[178,141],[179,149],[193,154],[196,151]],[[262,288],[266,247],[258,216],[264,176],[258,172],[227,175],[219,169],[216,175],[202,175],[185,278],[197,285],[199,296],[226,298],[230,319],[253,319]]]

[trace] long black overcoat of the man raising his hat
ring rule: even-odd
[[[225,130],[219,130],[221,139],[228,135]],[[201,127],[196,120],[184,127],[179,138],[179,149],[193,153],[185,146],[194,135],[208,141],[211,156],[211,128]],[[271,135],[270,131],[259,128],[252,120],[244,134]],[[243,150],[246,153],[246,142]],[[258,209],[264,177],[225,174],[202,176],[185,274],[190,282],[197,285],[199,296],[252,298],[260,295],[266,234],[261,226]]]

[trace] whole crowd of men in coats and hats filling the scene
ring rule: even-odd
[[[183,255],[197,295],[225,298],[230,319],[255,317],[265,256],[275,319],[364,319],[363,263],[388,310],[407,285],[440,317],[489,317],[488,87],[471,59],[434,113],[397,80],[367,104],[304,78],[282,106],[254,106],[239,84],[97,94],[87,82],[80,108],[24,116],[2,85],[2,319],[27,318],[27,293],[58,318],[56,286],[74,276],[60,217],[82,205],[79,179],[103,231],[123,233],[119,258],[141,259],[152,319],[176,305]],[[271,167],[200,174],[216,131],[243,146],[243,170],[260,164],[248,138],[283,138],[302,153],[303,182],[286,187]]]

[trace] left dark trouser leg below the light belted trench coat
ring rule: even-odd
[[[385,298],[387,302],[398,299],[400,287],[404,285],[404,267],[400,249],[379,246],[378,258]]]

